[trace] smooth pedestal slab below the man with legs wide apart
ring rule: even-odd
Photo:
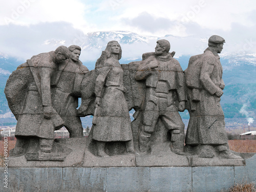
[[[192,191],[191,167],[151,167],[150,191]]]

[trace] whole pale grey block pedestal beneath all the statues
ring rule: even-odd
[[[221,191],[234,182],[254,182],[256,156],[245,166],[215,167],[45,167],[8,169],[1,191]],[[209,159],[209,158],[208,158]],[[4,167],[0,167],[4,178]],[[25,190],[26,189],[26,190]]]

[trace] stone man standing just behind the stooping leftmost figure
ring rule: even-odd
[[[58,65],[52,82],[52,104],[61,116],[71,137],[83,137],[80,117],[77,115],[81,81],[89,70],[79,60],[81,47],[69,46],[69,62]]]

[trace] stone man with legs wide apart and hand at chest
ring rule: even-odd
[[[179,62],[169,50],[167,40],[158,40],[155,53],[143,54],[142,63],[135,75],[136,80],[145,80],[146,83],[145,98],[141,106],[139,146],[145,152],[160,118],[172,135],[173,152],[183,155],[184,124],[178,111],[185,110],[185,82]],[[175,94],[178,94],[178,108],[175,106]]]

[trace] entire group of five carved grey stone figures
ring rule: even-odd
[[[77,45],[33,56],[13,71],[5,88],[17,119],[11,155],[63,161],[68,147],[54,141],[54,131],[65,126],[70,138],[83,137],[80,116],[92,114],[88,139],[99,157],[150,154],[156,142],[169,142],[177,155],[241,158],[229,150],[220,105],[225,84],[218,53],[223,43],[222,37],[211,36],[208,48],[192,56],[185,71],[164,39],[142,61],[122,65],[120,44],[110,41],[91,71],[79,60]],[[190,114],[186,136],[179,114],[185,109]],[[108,146],[117,148],[115,153]]]

